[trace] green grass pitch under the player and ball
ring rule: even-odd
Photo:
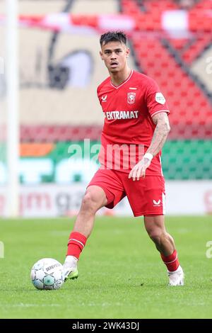
[[[31,266],[61,262],[73,220],[2,220],[1,318],[211,318],[212,219],[167,217],[185,273],[185,286],[167,287],[166,269],[142,218],[97,218],[78,263],[79,278],[60,290],[36,290]]]

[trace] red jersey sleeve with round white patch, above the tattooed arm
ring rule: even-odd
[[[170,113],[165,96],[163,96],[158,84],[154,80],[151,80],[146,90],[146,106],[151,117],[160,112]]]

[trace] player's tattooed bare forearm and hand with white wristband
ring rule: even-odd
[[[155,123],[155,131],[151,145],[148,147],[146,153],[152,154],[153,157],[160,152],[168,133],[170,132],[170,123],[166,112],[160,112],[157,115],[153,115],[153,122]],[[145,177],[146,169],[151,164],[151,159],[143,157],[139,163],[137,163],[129,173],[129,178],[134,181],[139,181],[140,177]]]

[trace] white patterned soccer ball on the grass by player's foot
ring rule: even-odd
[[[37,289],[59,289],[64,283],[64,269],[59,261],[43,258],[33,265],[30,277]]]

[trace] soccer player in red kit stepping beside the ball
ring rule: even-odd
[[[155,81],[129,68],[124,33],[104,33],[100,46],[100,57],[110,74],[98,86],[105,113],[101,166],[88,184],[69,237],[65,277],[78,277],[77,261],[93,230],[95,213],[103,206],[113,208],[127,196],[134,216],[143,215],[146,231],[167,266],[169,286],[182,286],[184,273],[164,222],[165,183],[160,154],[170,132],[170,111]]]

